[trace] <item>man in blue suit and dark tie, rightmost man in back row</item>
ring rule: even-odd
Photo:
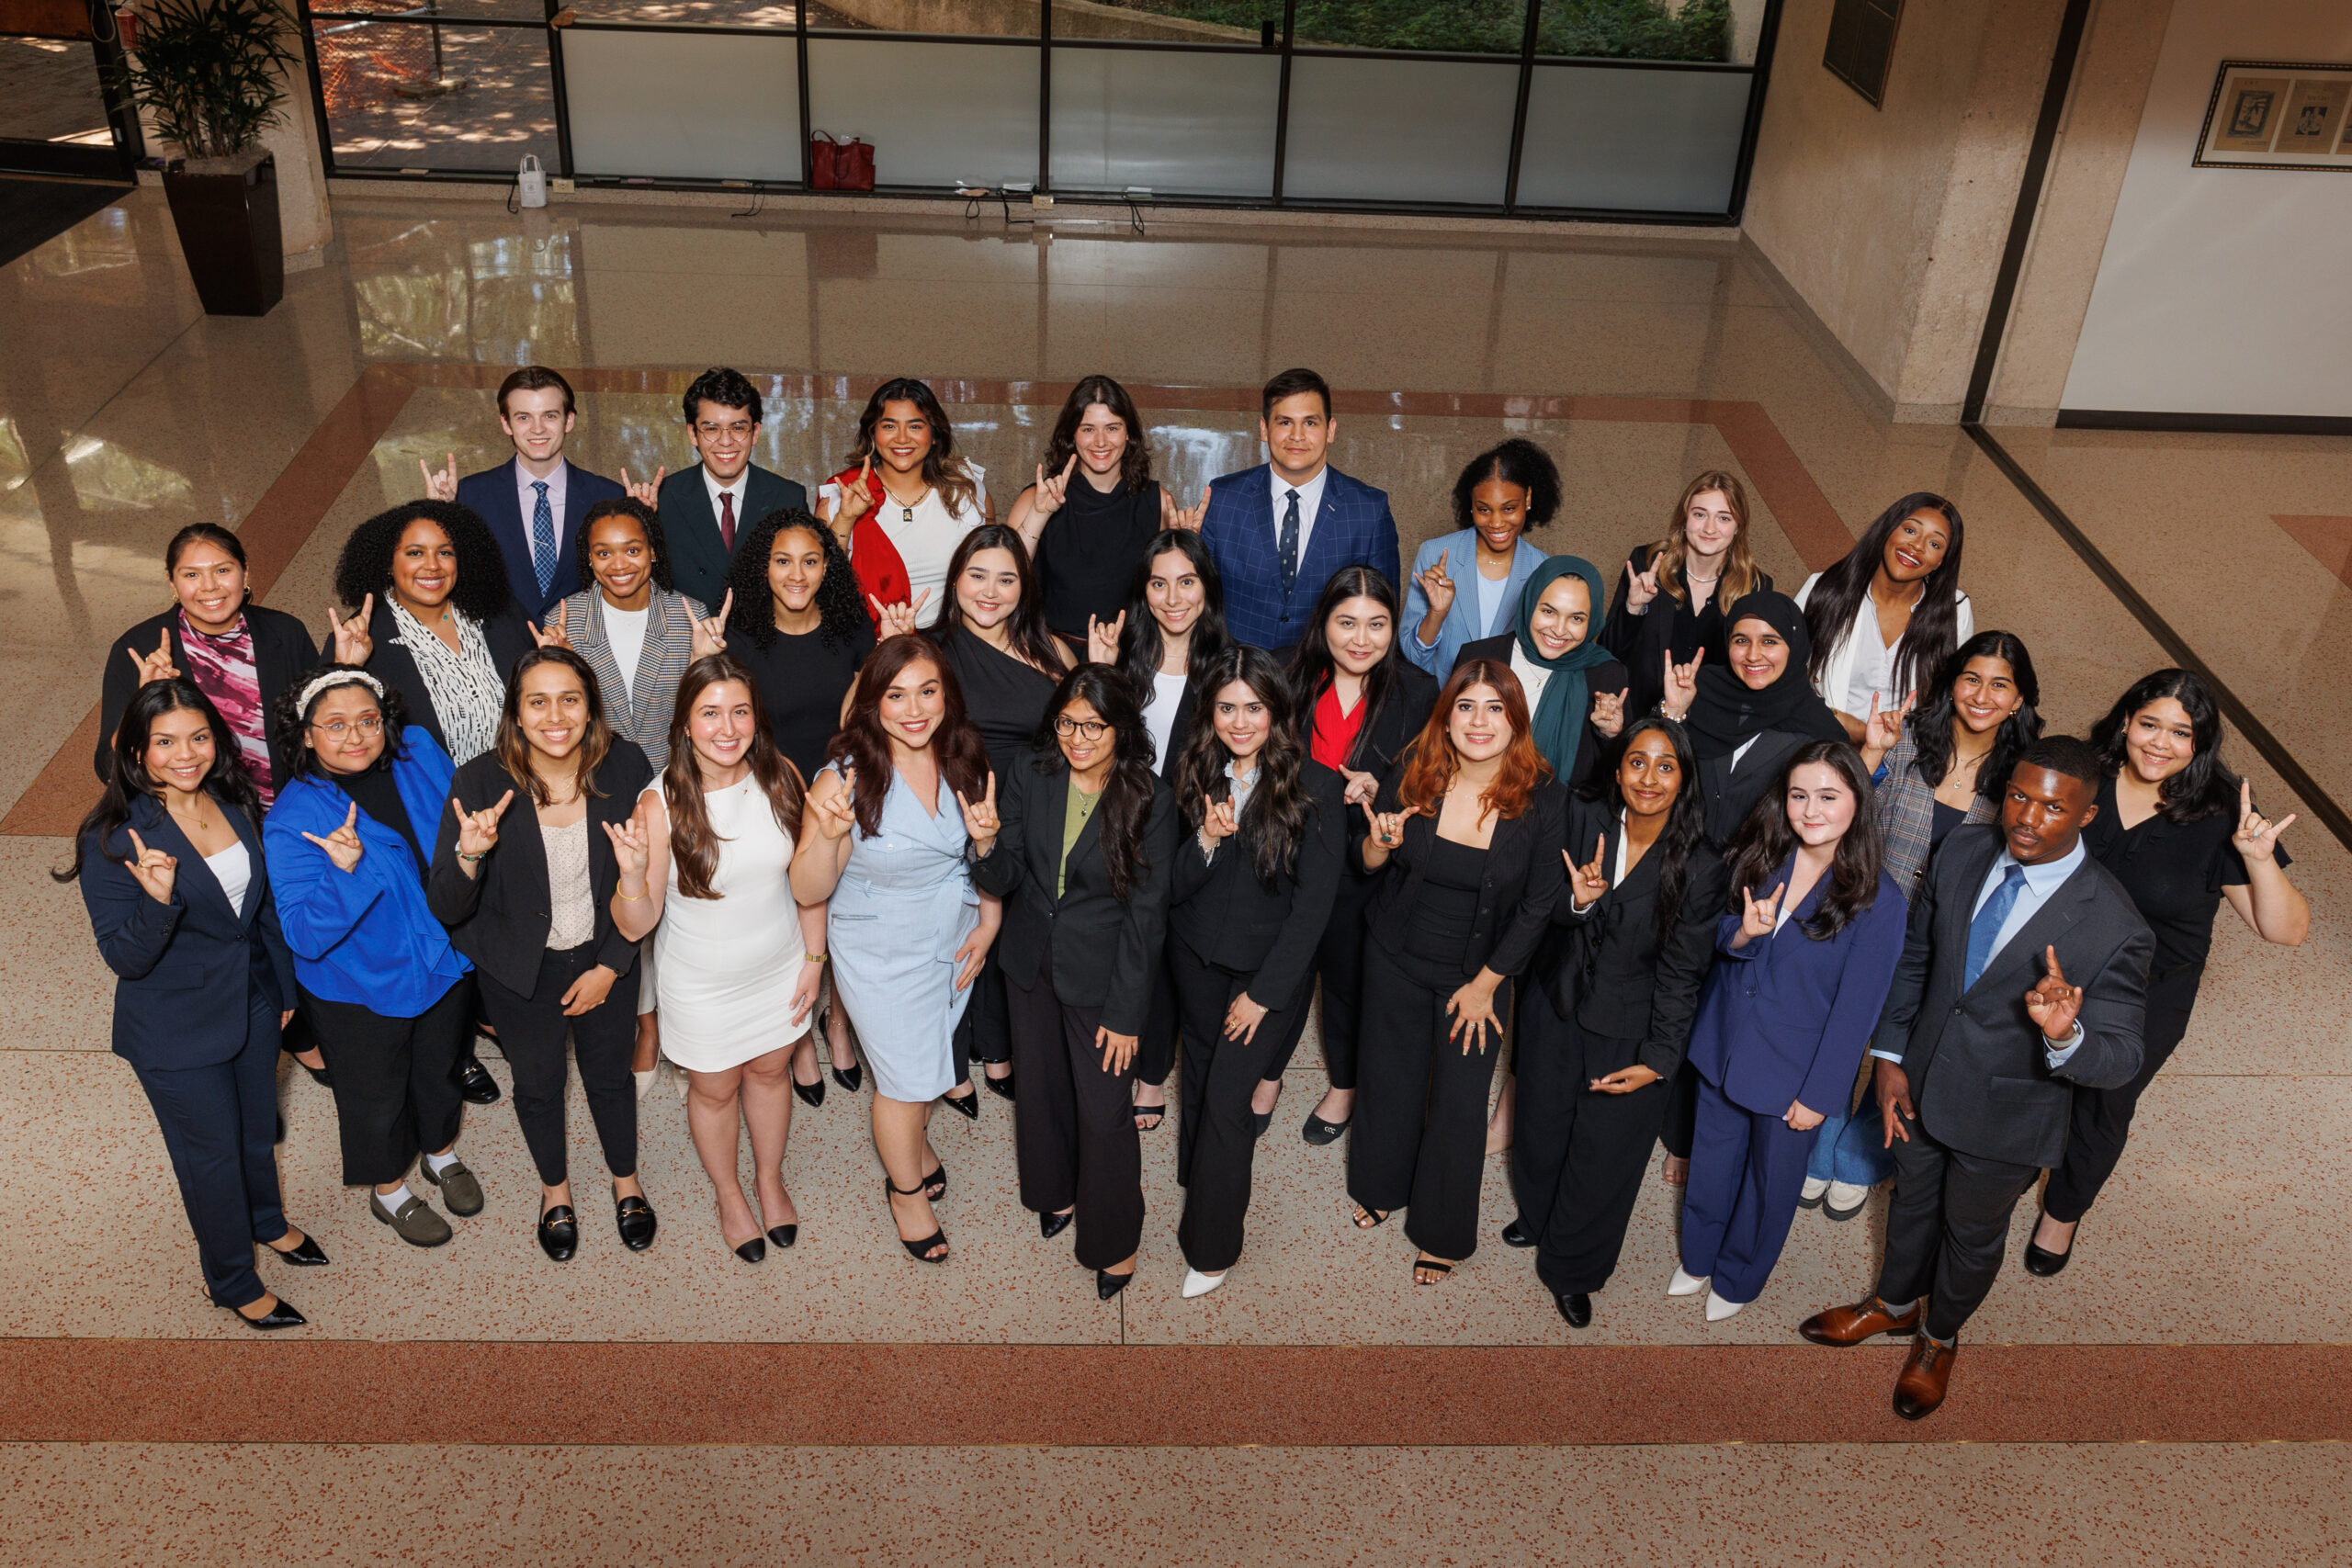
[[[1388,494],[1331,468],[1334,430],[1324,378],[1287,369],[1258,397],[1268,461],[1209,487],[1200,536],[1225,578],[1225,630],[1235,642],[1287,656],[1341,567],[1397,581]]]

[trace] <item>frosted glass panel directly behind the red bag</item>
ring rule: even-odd
[[[1037,179],[1037,49],[811,38],[809,125],[870,141],[877,186]]]

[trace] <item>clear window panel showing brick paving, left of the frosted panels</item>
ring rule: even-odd
[[[334,162],[346,169],[555,167],[555,89],[539,28],[318,21]]]

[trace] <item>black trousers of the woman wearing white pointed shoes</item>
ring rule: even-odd
[[[1225,1039],[1225,1009],[1249,990],[1249,976],[1202,964],[1183,943],[1169,943],[1169,971],[1183,1023],[1183,1105],[1176,1107],[1183,1220],[1176,1222],[1176,1246],[1202,1274],[1223,1274],[1242,1255],[1249,1173],[1258,1154],[1249,1095],[1303,997],[1261,1018],[1254,1039]],[[1251,1001],[1263,1004],[1265,997],[1251,994]]]

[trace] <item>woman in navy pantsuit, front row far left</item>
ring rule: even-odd
[[[278,1197],[278,1034],[294,966],[261,865],[261,799],[195,682],[129,698],[106,795],[56,879],[80,879],[115,971],[115,1056],[155,1107],[205,1293],[254,1328],[301,1326],[254,1272],[256,1241],[294,1265],[327,1262]]]

